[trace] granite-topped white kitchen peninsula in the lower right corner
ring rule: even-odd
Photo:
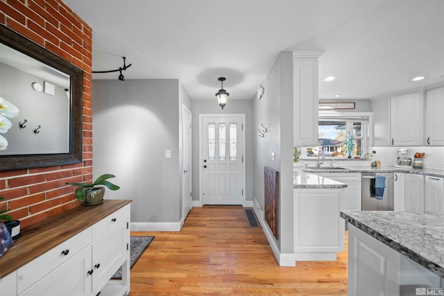
[[[341,217],[349,223],[348,295],[442,290],[443,212],[341,211]]]

